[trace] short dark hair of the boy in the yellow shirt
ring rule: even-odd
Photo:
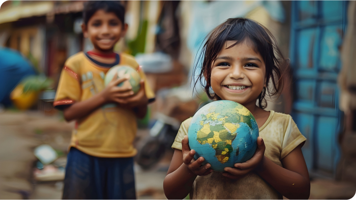
[[[113,12],[118,16],[121,23],[125,23],[125,7],[116,0],[89,0],[84,3],[83,22],[88,24],[89,19],[98,10]]]

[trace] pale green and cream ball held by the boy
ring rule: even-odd
[[[118,78],[122,78],[124,76],[129,76],[130,78],[120,83],[118,86],[124,86],[125,84],[130,85],[132,87],[132,91],[136,94],[140,90],[140,74],[130,66],[126,65],[115,65],[109,69],[109,71],[105,75],[104,84],[107,86],[110,81],[114,78],[114,75],[118,73]]]

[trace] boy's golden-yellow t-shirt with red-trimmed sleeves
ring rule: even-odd
[[[123,53],[117,57],[119,64],[139,69],[134,57]],[[74,102],[87,100],[102,91],[109,69],[110,66],[99,65],[83,52],[69,57],[60,74],[55,108],[62,109]],[[154,93],[147,84],[145,74],[142,70],[139,74],[145,80],[148,99],[153,99]],[[119,106],[106,108],[104,105],[76,121],[69,148],[75,147],[96,157],[133,157],[137,152],[133,147],[136,131],[136,116],[131,109]]]

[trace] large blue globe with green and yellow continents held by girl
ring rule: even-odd
[[[194,114],[188,129],[194,158],[204,157],[214,171],[249,160],[256,151],[258,126],[247,108],[234,101],[214,101]]]

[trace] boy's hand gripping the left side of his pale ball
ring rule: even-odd
[[[102,91],[102,97],[104,98],[104,101],[106,103],[119,103],[120,99],[132,96],[134,92],[131,90],[131,86],[118,87],[120,83],[127,80],[128,77],[118,79],[118,75],[116,73],[114,75],[113,80],[111,80],[110,83]]]

